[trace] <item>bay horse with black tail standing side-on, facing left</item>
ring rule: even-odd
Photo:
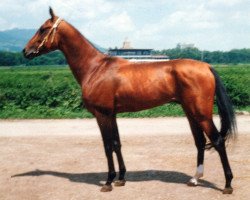
[[[38,29],[23,50],[26,58],[61,50],[70,69],[81,86],[86,109],[91,112],[101,131],[108,162],[108,176],[102,192],[112,190],[116,177],[113,152],[119,165],[115,186],[125,185],[126,168],[121,153],[121,142],[116,114],[136,112],[178,102],[187,118],[197,147],[197,170],[188,182],[196,186],[203,176],[206,137],[219,153],[226,179],[224,194],[231,194],[233,174],[227,158],[225,141],[236,133],[236,120],[231,101],[215,70],[207,63],[191,59],[164,62],[134,63],[99,52],[72,25],[56,16]],[[221,130],[213,122],[216,96],[221,119]]]

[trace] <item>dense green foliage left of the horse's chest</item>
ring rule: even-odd
[[[67,111],[82,111],[80,88],[66,67],[7,68],[0,73],[2,110],[14,107],[36,112],[38,109],[36,113],[44,117],[51,116],[49,111],[56,111],[59,118],[59,114]]]

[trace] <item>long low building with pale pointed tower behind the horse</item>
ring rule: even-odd
[[[152,55],[153,49],[138,49],[133,48],[131,43],[125,39],[121,48],[109,49],[110,56],[118,56],[134,62],[153,62],[153,61],[167,61],[168,56]]]

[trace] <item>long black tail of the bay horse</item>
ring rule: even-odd
[[[211,72],[215,77],[216,102],[221,121],[220,134],[224,138],[224,140],[227,140],[229,137],[236,135],[237,125],[235,113],[232,102],[226,92],[226,88],[224,87],[219,75],[213,68],[211,68]]]

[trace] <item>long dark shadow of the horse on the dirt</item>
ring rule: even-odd
[[[104,181],[107,177],[106,172],[66,173],[66,172],[43,171],[43,170],[29,171],[21,174],[16,174],[11,177],[14,178],[22,176],[42,176],[42,175],[51,175],[51,176],[66,178],[72,182],[87,183],[98,186],[102,186],[100,182]],[[176,171],[145,170],[145,171],[128,171],[126,173],[126,180],[130,182],[158,180],[166,183],[186,184],[191,178],[192,178],[191,176],[185,173]],[[222,191],[215,184],[205,180],[200,180],[198,186]]]

